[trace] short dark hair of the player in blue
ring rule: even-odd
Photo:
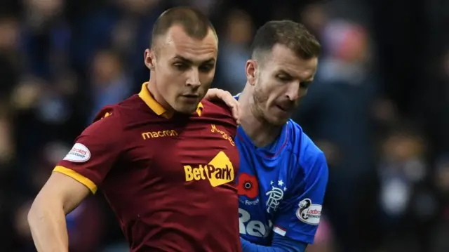
[[[271,51],[276,44],[287,46],[304,60],[318,57],[321,53],[319,41],[304,25],[280,20],[269,21],[257,29],[251,45],[252,57],[257,58],[258,53]]]

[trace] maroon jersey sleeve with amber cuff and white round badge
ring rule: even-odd
[[[119,157],[122,135],[117,112],[102,111],[95,120],[53,170],[86,185],[93,194]]]

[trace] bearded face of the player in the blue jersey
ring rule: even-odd
[[[307,94],[318,59],[303,60],[290,48],[275,45],[260,61],[246,63],[248,84],[253,86],[252,110],[269,124],[281,126]]]

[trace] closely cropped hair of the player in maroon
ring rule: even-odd
[[[216,34],[212,23],[201,11],[190,7],[175,7],[164,11],[154,22],[152,41],[166,34],[173,25],[181,25],[187,35],[194,39],[204,39],[209,29]]]

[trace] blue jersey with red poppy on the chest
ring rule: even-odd
[[[323,152],[294,121],[268,147],[256,147],[239,127],[240,235],[270,246],[272,234],[312,244],[321,216],[328,166]]]

